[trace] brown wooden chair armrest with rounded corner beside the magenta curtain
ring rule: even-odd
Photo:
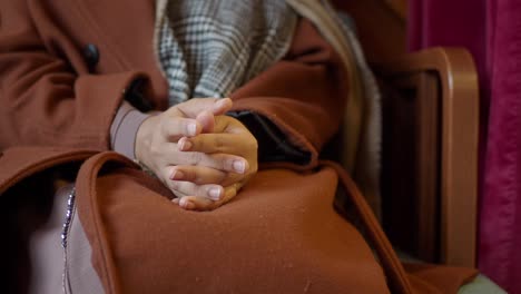
[[[439,174],[435,175],[434,179],[417,180],[421,187],[425,183],[438,184],[438,187],[423,185],[424,193],[426,193],[425,187],[436,189],[440,197],[439,212],[434,216],[440,224],[438,227],[439,254],[436,259],[450,265],[475,266],[479,89],[478,75],[472,57],[462,48],[432,48],[409,53],[389,62],[375,63],[373,69],[381,79],[393,80],[393,85],[400,85],[400,82],[396,84],[400,80],[409,80],[407,82],[411,84],[411,77],[420,77],[416,79],[417,82],[420,85],[431,85],[429,86],[431,88],[427,87],[427,90],[417,91],[417,94],[421,94],[417,97],[419,99],[429,99],[425,97],[433,96],[433,92],[439,91],[439,95],[434,95],[434,100],[438,99],[438,102],[433,104],[431,101],[431,106],[426,110],[425,107],[423,108],[424,112],[421,116],[427,116],[427,118],[420,117],[420,119],[415,120],[420,125],[431,124],[438,127],[434,133],[438,131],[439,134],[439,159],[435,160],[439,165]],[[429,76],[434,76],[438,82],[425,84],[425,77],[429,79]],[[439,89],[434,89],[436,85]],[[432,120],[429,118],[427,112],[431,111],[431,108],[435,109],[436,105],[439,109],[432,111],[439,111],[439,120]],[[425,122],[426,120],[431,122]],[[416,134],[420,140],[422,140],[422,136],[429,136],[424,133]],[[436,135],[434,134],[434,136]],[[432,139],[432,141],[435,141],[435,139]],[[423,138],[423,143],[420,143],[420,145],[422,144],[424,148],[416,154],[419,165],[429,161],[429,153],[432,151],[434,158],[436,156],[435,150],[429,149],[429,139],[425,141],[425,138]],[[431,149],[436,148],[431,146]],[[395,156],[395,154],[391,154],[391,156]],[[412,170],[412,177],[417,176],[414,171],[417,170]],[[383,175],[385,176],[385,173]],[[421,176],[432,177],[432,173],[426,171]],[[415,192],[421,194],[421,187]],[[385,190],[382,192],[382,195],[385,197]],[[433,203],[431,202],[431,204]],[[432,207],[424,207],[424,209],[431,209],[430,213],[432,213]],[[417,214],[420,214],[421,218],[421,207]],[[426,224],[426,226],[431,225]],[[419,228],[422,228],[421,224]],[[421,241],[419,242],[421,243]]]

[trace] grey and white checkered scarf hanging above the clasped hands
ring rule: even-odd
[[[170,0],[159,23],[169,105],[228,97],[289,48],[296,12],[284,0]]]

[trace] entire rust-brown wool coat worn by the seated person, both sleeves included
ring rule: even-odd
[[[108,150],[110,124],[136,79],[146,79],[142,97],[166,108],[154,4],[0,0],[0,194],[21,176],[92,155],[80,149]],[[88,45],[98,60],[86,55]],[[234,109],[268,117],[312,160],[262,168],[215,212],[178,208],[158,182],[116,154],[89,159],[77,180],[78,214],[105,291],[387,293],[370,246],[333,208],[338,171],[317,160],[346,102],[340,63],[302,20],[284,60],[233,94]],[[104,160],[119,164],[98,175]],[[406,292],[409,282],[394,285],[403,268],[393,261],[384,261],[389,286]]]

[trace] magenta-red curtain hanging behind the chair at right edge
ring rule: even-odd
[[[480,76],[479,268],[521,293],[521,1],[410,0],[409,47],[463,46]]]

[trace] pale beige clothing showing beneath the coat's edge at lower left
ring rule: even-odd
[[[61,247],[61,232],[71,189],[72,185],[68,185],[57,192],[47,224],[29,239],[32,273],[30,294],[105,293],[90,262],[92,249],[80,218],[75,214],[68,233],[67,274],[63,276],[66,259]]]

